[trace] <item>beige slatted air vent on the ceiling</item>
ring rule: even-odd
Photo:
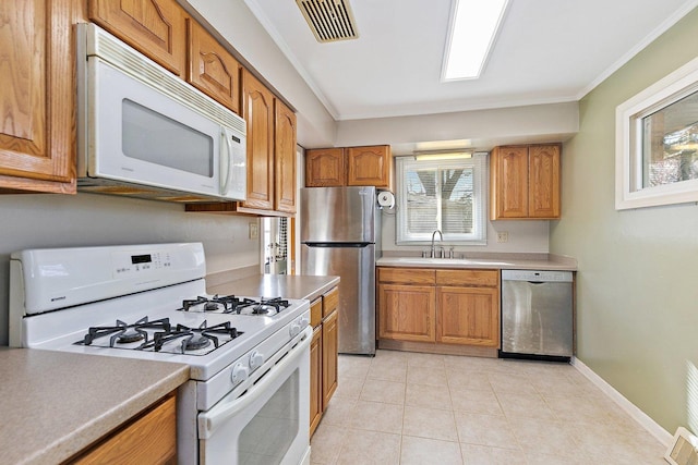
[[[318,42],[359,37],[348,0],[296,0]]]

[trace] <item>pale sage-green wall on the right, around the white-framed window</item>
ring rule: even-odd
[[[551,252],[579,264],[578,358],[672,433],[698,432],[687,407],[698,403],[698,206],[614,209],[614,118],[696,56],[698,10],[580,101],[563,148],[564,215],[551,223]]]

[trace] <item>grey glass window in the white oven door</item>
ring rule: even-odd
[[[296,370],[240,433],[238,463],[281,463],[299,432],[299,389]]]

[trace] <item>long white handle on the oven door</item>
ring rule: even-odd
[[[266,370],[268,369],[268,366],[275,366],[276,362],[279,362],[279,364],[257,381],[256,384],[251,386],[244,395],[226,403],[225,405],[216,405],[208,412],[198,414],[200,439],[210,438],[221,424],[226,423],[230,417],[237,415],[238,412],[246,408],[250,404],[256,401],[260,395],[266,391],[266,388],[269,384],[274,383],[274,381],[284,375],[284,368],[289,365],[297,364],[300,357],[306,355],[305,350],[310,347],[311,340],[312,338],[309,335],[309,331],[303,331],[303,339],[298,343],[298,345],[296,345],[296,347],[286,353],[286,356],[282,356],[280,360],[277,360],[276,357],[274,357],[268,364],[265,364],[266,366],[260,367],[261,370]]]

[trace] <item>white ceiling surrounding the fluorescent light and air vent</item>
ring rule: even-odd
[[[698,4],[509,0],[480,78],[442,83],[450,0],[349,0],[359,38],[327,44],[294,0],[244,1],[337,121],[575,101]]]

